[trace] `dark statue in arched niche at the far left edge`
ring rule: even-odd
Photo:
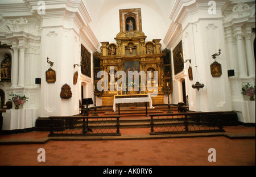
[[[9,54],[5,54],[5,59],[1,62],[1,79],[11,79],[11,58]]]

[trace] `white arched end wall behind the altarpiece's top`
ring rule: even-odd
[[[104,16],[98,18],[97,24],[92,22],[93,32],[98,41],[115,43],[114,37],[120,32],[119,10],[134,8],[141,8],[142,31],[147,36],[146,41],[152,41],[153,39],[163,40],[168,29],[168,23],[164,21],[163,16],[148,6],[127,2],[124,5],[113,6],[113,9],[106,11]]]

